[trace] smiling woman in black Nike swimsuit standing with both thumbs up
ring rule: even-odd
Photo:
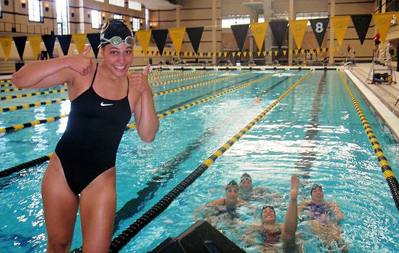
[[[132,114],[142,140],[154,140],[159,127],[149,67],[127,73],[133,62],[129,27],[109,19],[101,30],[99,64],[82,55],[36,61],[12,75],[20,88],[68,84],[71,112],[43,176],[42,200],[47,252],[68,252],[80,207],[83,252],[106,253],[116,210],[116,152]]]

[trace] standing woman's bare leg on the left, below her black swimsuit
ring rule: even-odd
[[[47,252],[68,252],[71,247],[79,199],[69,188],[61,163],[54,153],[41,185]]]

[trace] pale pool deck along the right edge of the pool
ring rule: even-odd
[[[397,83],[371,84],[370,80],[366,83],[370,68],[371,63],[358,63],[353,68],[346,69],[345,72],[399,141],[399,72],[396,71],[396,66],[394,66],[393,74],[396,78],[393,77],[393,80],[396,80]],[[384,66],[377,66],[376,68],[384,69]],[[387,67],[385,66],[385,68]]]

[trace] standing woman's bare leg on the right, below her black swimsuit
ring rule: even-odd
[[[84,253],[107,253],[112,240],[115,211],[115,167],[94,179],[80,194]]]

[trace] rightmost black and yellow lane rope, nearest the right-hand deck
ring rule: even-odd
[[[373,132],[373,129],[371,128],[369,122],[366,119],[366,116],[363,114],[362,108],[358,104],[355,95],[353,95],[351,89],[349,88],[348,82],[345,80],[344,75],[341,73],[341,71],[338,72],[341,76],[342,81],[345,84],[346,90],[349,94],[349,97],[351,97],[352,103],[355,106],[355,109],[359,115],[359,119],[362,122],[363,127],[365,128],[365,132],[367,133],[367,136],[369,137],[369,141],[372,144],[372,148],[374,150],[374,153],[378,159],[378,162],[381,167],[381,171],[383,172],[384,178],[388,183],[388,186],[391,190],[392,197],[394,199],[396,208],[399,210],[399,183],[398,180],[392,171],[392,168],[390,166],[390,163],[387,160],[387,157],[384,154],[383,148],[381,147],[380,143],[378,142],[378,139],[376,135]]]

